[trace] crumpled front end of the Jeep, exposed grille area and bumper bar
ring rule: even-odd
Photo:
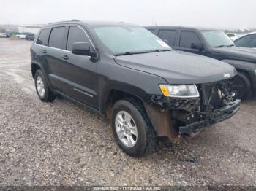
[[[233,101],[235,94],[229,87],[228,80],[200,84],[197,85],[200,98],[166,98],[150,95],[148,103],[158,105],[162,113],[170,113],[168,117],[171,118],[172,125],[169,125],[169,128],[175,128],[178,134],[195,133],[238,112],[241,101]],[[159,122],[157,125],[162,124]]]

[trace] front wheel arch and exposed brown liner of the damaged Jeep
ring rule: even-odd
[[[116,101],[120,99],[132,99],[131,101],[135,103],[140,103],[145,112],[145,115],[150,122],[150,125],[153,126],[154,131],[158,136],[166,136],[171,141],[176,142],[180,138],[176,129],[173,126],[171,120],[170,111],[161,112],[159,106],[151,106],[147,103],[147,93],[141,90],[139,87],[134,87],[131,85],[123,85],[123,88],[111,87],[106,91],[104,101],[102,101],[102,114],[105,115],[107,120],[111,118],[111,112],[113,105]],[[124,88],[129,87],[129,88]],[[129,91],[127,91],[129,90]]]

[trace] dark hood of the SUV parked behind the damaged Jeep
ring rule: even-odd
[[[256,63],[256,50],[246,47],[213,47],[213,52],[222,54],[226,59]]]

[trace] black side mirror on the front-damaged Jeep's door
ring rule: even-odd
[[[72,45],[72,53],[75,55],[96,56],[96,53],[91,51],[91,47],[88,42],[75,42]]]

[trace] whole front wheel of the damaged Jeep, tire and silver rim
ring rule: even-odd
[[[151,153],[157,144],[143,106],[135,101],[120,100],[114,104],[111,127],[118,146],[132,157]]]

